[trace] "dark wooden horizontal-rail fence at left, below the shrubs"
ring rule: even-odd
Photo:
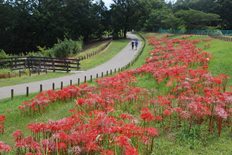
[[[11,57],[0,59],[2,68],[12,70],[29,69],[30,71],[66,71],[80,69],[80,59],[57,59],[50,57]]]

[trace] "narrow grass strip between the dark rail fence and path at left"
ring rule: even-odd
[[[70,75],[70,73],[48,72],[48,74],[41,73],[40,75],[32,74],[32,76],[23,75],[21,77],[12,77],[12,78],[0,79],[0,87],[12,86],[12,85],[41,81],[41,80],[47,80],[47,79],[62,77],[62,76],[66,76],[66,75]]]

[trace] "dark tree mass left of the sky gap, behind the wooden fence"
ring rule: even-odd
[[[100,38],[109,25],[106,17],[102,1],[0,1],[0,48],[20,54],[37,46],[51,48],[65,37]]]

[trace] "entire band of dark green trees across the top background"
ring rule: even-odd
[[[232,29],[231,0],[0,0],[0,49],[11,54],[129,30]]]

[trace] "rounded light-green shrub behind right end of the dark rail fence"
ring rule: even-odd
[[[65,39],[59,41],[51,49],[53,55],[57,58],[66,58],[70,55],[79,53],[82,50],[82,41],[73,41],[71,39]]]

